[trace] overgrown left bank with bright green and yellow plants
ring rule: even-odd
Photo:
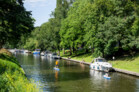
[[[26,78],[16,58],[5,49],[0,50],[0,92],[39,92]]]

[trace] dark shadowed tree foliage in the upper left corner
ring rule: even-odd
[[[1,48],[6,43],[16,45],[22,35],[31,32],[34,20],[22,0],[0,0],[0,3]]]

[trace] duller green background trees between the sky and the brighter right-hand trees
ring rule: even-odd
[[[24,48],[31,50],[35,48],[51,51],[60,50],[59,31],[61,21],[67,16],[70,4],[71,2],[68,2],[68,0],[57,0],[57,7],[52,13],[54,18],[35,28],[31,33],[31,37],[27,39]]]

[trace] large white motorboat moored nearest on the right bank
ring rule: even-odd
[[[95,58],[90,64],[90,68],[98,71],[109,72],[112,70],[112,65],[108,63],[104,58]]]

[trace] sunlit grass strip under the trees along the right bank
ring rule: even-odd
[[[84,51],[78,51],[76,55],[75,53],[73,53],[73,55],[71,56],[69,55],[69,52],[66,52],[65,54],[61,52],[61,56],[65,58],[70,57],[70,59],[79,60],[79,61],[84,60],[85,62],[91,62],[92,59],[94,58],[91,53],[86,54]],[[116,58],[116,60],[114,61],[109,60],[108,62],[110,62],[114,68],[119,68],[119,69],[124,69],[124,70],[139,73],[139,54],[136,54],[134,57],[131,56],[118,57]]]

